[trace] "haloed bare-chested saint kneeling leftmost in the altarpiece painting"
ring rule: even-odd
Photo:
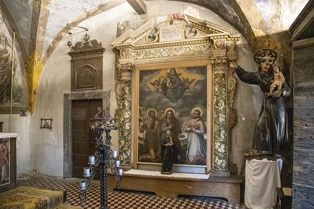
[[[156,118],[157,111],[150,109],[147,111],[148,119],[144,121],[139,132],[144,133],[144,151],[146,154],[139,156],[139,162],[155,161],[160,155],[159,138],[157,135],[159,121]],[[157,159],[158,160],[158,159]]]

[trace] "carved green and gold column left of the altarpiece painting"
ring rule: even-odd
[[[116,85],[119,127],[119,160],[120,166],[131,166],[131,64],[117,64],[119,82]]]

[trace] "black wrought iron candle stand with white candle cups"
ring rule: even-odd
[[[99,113],[95,118],[91,118],[89,127],[91,130],[97,130],[99,137],[96,137],[96,143],[99,151],[95,155],[89,156],[89,167],[84,168],[83,177],[84,180],[80,181],[79,199],[80,204],[86,202],[86,190],[90,188],[91,179],[95,176],[96,167],[100,164],[100,209],[109,209],[108,204],[108,189],[107,189],[107,169],[110,166],[111,172],[113,172],[113,178],[116,181],[117,188],[120,188],[122,169],[120,167],[120,161],[117,161],[117,151],[112,153],[111,150],[111,130],[117,130],[116,125],[117,118],[111,118],[109,114],[109,108],[106,108],[106,112],[109,115],[105,116],[103,111],[103,117],[98,116],[102,112],[102,108],[98,108]]]

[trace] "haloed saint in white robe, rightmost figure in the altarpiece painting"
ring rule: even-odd
[[[206,125],[201,118],[201,109],[192,110],[192,119],[185,125],[187,134],[186,161],[188,164],[206,165]]]

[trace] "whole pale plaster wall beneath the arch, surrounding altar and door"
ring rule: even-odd
[[[137,15],[128,3],[122,4],[105,13],[92,17],[80,24],[88,27],[90,39],[102,42],[104,52],[103,70],[103,91],[110,92],[110,114],[114,116],[117,109],[115,97],[115,85],[117,75],[114,67],[115,55],[111,51],[109,44],[116,39],[117,23],[180,13],[186,6],[192,4],[173,1],[146,1],[147,14]],[[215,24],[228,27],[238,32],[230,24],[220,19],[216,14],[200,6],[194,6],[199,10],[201,20],[206,20]],[[73,32],[73,43],[82,41],[86,31],[75,28]],[[35,112],[30,119],[30,150],[31,167],[38,169],[40,173],[51,176],[63,175],[63,96],[64,93],[71,92],[71,57],[67,37],[65,37],[56,47],[51,57],[44,66],[39,81]],[[253,54],[249,51],[248,44],[242,38],[237,43],[238,60],[237,64],[247,70],[255,70],[256,64],[253,61]],[[134,84],[133,84],[134,85]],[[134,86],[133,86],[134,88]],[[238,165],[237,173],[240,174],[244,168],[245,160],[243,153],[251,144],[257,116],[260,112],[262,94],[258,88],[246,85],[238,81],[235,95],[235,105],[237,108],[237,124],[233,129],[233,162]],[[104,102],[105,103],[105,102]],[[243,118],[240,117],[242,114]],[[52,129],[40,129],[40,118],[51,118]],[[135,119],[137,117],[134,117]],[[134,119],[132,118],[132,120]],[[118,149],[118,131],[112,131],[112,149]],[[131,150],[132,151],[132,150]],[[132,158],[132,156],[131,156]]]

